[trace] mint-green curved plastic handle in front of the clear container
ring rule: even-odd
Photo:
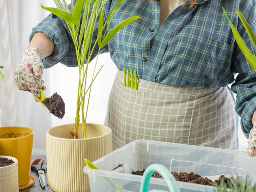
[[[173,174],[164,166],[159,163],[149,165],[142,177],[141,186],[139,192],[148,192],[148,185],[151,176],[154,172],[158,172],[167,183],[167,187],[170,192],[180,192],[180,188],[177,185],[177,181]],[[151,190],[150,192],[166,192],[164,190]]]

